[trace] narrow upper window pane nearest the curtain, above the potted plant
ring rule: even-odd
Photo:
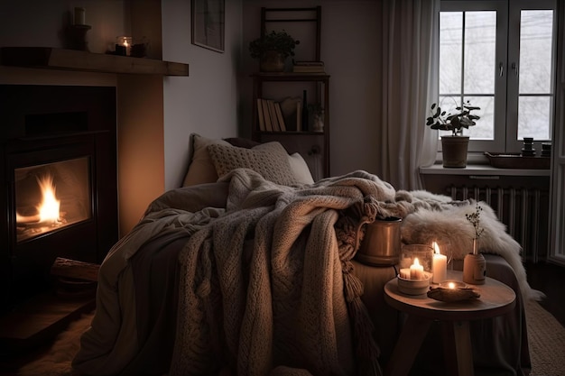
[[[440,93],[461,92],[463,13],[440,13]]]

